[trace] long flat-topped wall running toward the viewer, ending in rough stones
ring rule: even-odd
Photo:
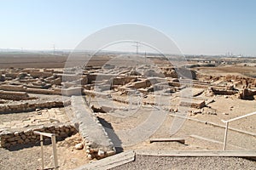
[[[111,139],[108,138],[102,124],[98,121],[81,96],[72,96],[72,108],[75,114],[74,122],[79,133],[84,138],[84,148],[88,157],[103,158],[116,153]]]

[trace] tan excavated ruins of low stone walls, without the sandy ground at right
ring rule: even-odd
[[[58,140],[80,133],[87,157],[101,159],[118,152],[100,122],[103,113],[125,117],[144,107],[172,116],[218,116],[211,106],[215,97],[254,100],[255,95],[253,77],[203,75],[186,65],[7,69],[0,74],[0,116],[20,114],[22,123],[20,129],[0,123],[0,147],[38,142],[33,131],[55,133]]]

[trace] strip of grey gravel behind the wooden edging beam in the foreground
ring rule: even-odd
[[[256,169],[256,161],[237,157],[167,157],[136,156],[136,161],[114,167],[111,170],[137,169]]]

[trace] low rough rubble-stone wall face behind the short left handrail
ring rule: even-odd
[[[40,135],[33,133],[33,131],[39,131],[44,133],[55,133],[56,139],[65,139],[77,133],[77,130],[73,125],[70,124],[58,124],[50,125],[48,127],[37,127],[29,128],[22,131],[3,131],[0,133],[0,147],[9,148],[10,146],[15,146],[17,144],[34,144],[40,141]],[[44,137],[44,139],[47,137]]]

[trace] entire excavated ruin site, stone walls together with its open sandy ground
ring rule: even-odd
[[[62,142],[79,134],[79,145],[72,147],[83,150],[84,159],[99,160],[123,150],[163,150],[145,141],[164,138],[168,144],[173,131],[171,137],[182,138],[184,144],[166,145],[167,150],[219,150],[224,134],[221,120],[255,111],[254,77],[214,74],[213,70],[211,75],[204,65],[195,65],[201,62],[196,59],[175,66],[157,57],[152,57],[150,65],[150,58],[139,64],[110,62],[113,56],[100,65],[90,65],[92,59],[87,65],[64,69],[2,69],[0,147],[11,150],[39,144],[40,136],[34,131],[55,133]],[[211,68],[227,66],[216,63]],[[158,112],[159,120],[154,115]],[[256,147],[255,116],[244,121],[230,125],[231,150]],[[143,132],[140,124],[150,123],[152,133]],[[123,132],[137,127],[137,136]],[[140,135],[147,139],[139,140]]]

